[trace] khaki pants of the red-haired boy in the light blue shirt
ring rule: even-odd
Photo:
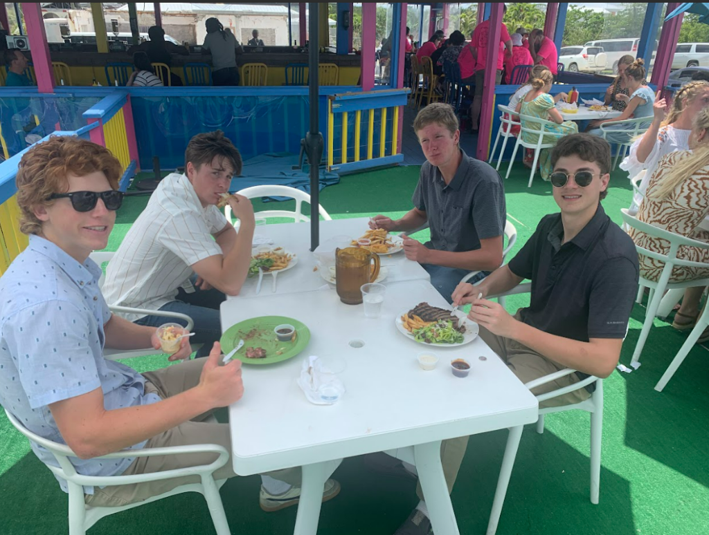
[[[147,372],[145,376],[145,393],[157,393],[161,398],[169,398],[184,392],[199,384],[202,367],[207,359],[194,359],[189,362],[180,362],[173,366],[159,369],[156,372]],[[188,444],[219,444],[227,451],[231,451],[231,436],[229,424],[203,422],[208,415],[204,413],[194,420],[184,422],[160,435],[147,441],[145,448],[162,448],[185,446]],[[215,461],[216,454],[182,454],[152,457],[137,457],[123,472],[122,476],[132,476],[139,473],[153,473],[186,466],[199,466]],[[300,485],[301,469],[289,468],[268,474],[276,479]],[[215,480],[233,478],[231,461],[219,468],[213,474]],[[116,485],[104,488],[95,487],[93,495],[84,495],[86,505],[94,507],[119,507],[133,502],[142,502],[152,496],[169,492],[175,487],[189,483],[199,483],[199,476],[185,476],[182,478],[167,479],[164,481],[150,481],[133,485]]]

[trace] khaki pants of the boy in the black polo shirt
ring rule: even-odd
[[[515,315],[515,319],[520,320],[520,316]],[[556,362],[552,362],[551,360],[542,357],[542,355],[537,353],[535,350],[515,342],[515,340],[493,335],[493,333],[482,326],[480,327],[479,335],[480,338],[482,338],[482,340],[490,346],[491,350],[496,352],[498,357],[500,357],[503,362],[508,365],[513,374],[515,374],[515,376],[517,376],[523,383],[528,383],[529,381],[539,379],[545,375],[559,372],[559,370],[565,368],[562,364],[557,364]],[[571,374],[562,377],[561,379],[557,379],[557,381],[552,381],[545,385],[538,386],[536,389],[532,389],[532,393],[535,396],[538,396],[541,393],[561,389],[564,388],[564,386],[569,386],[578,382],[579,377],[576,374]],[[556,398],[542,401],[539,406],[540,408],[547,408],[560,407],[562,405],[573,405],[574,403],[581,403],[581,401],[588,399],[589,396],[591,396],[591,394],[588,393],[586,389],[579,389],[564,394],[564,396],[557,396]],[[441,462],[443,464],[445,481],[448,484],[448,492],[452,490],[455,479],[458,476],[458,471],[463,462],[467,444],[468,437],[445,440],[441,444]],[[423,494],[420,489],[419,484],[416,491],[418,493],[418,497],[423,500]]]

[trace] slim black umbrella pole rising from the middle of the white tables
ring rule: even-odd
[[[309,41],[311,45],[308,48],[308,85],[310,90],[308,95],[311,125],[310,132],[303,139],[303,149],[308,155],[311,171],[311,251],[315,251],[320,244],[320,212],[318,211],[320,207],[320,159],[323,158],[325,146],[323,134],[320,133],[320,127],[318,126],[318,65],[320,64],[320,50],[318,48],[318,42],[320,42],[318,37],[320,17],[318,10],[318,3],[310,2],[310,20],[308,23],[310,25]],[[305,13],[301,13],[301,16],[305,16]]]

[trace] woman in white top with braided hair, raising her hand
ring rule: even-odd
[[[706,81],[692,81],[683,86],[675,95],[666,118],[664,115],[667,104],[664,98],[655,101],[653,120],[647,132],[632,144],[630,155],[620,163],[620,168],[627,171],[630,178],[635,178],[641,171],[646,171],[640,183],[642,195],[664,156],[674,151],[689,149],[693,117],[707,106],[709,106],[709,82]],[[642,195],[636,192],[633,196],[630,206],[632,214],[637,213]]]

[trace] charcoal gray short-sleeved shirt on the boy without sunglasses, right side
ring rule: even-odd
[[[476,251],[481,239],[505,232],[507,211],[500,173],[460,152],[462,159],[450,184],[427,161],[413,192],[413,205],[426,212],[431,230],[425,246],[437,251]]]

